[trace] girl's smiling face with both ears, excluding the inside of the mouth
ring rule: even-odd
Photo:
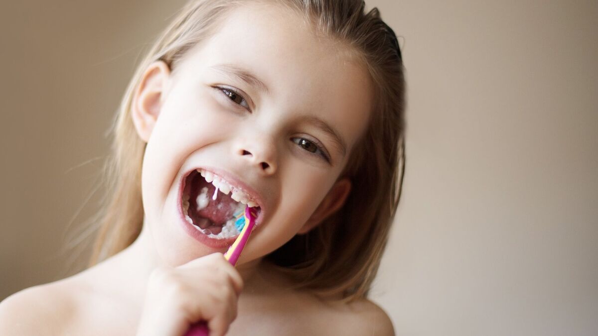
[[[224,64],[251,72],[267,90],[216,69]],[[133,104],[148,142],[144,225],[168,264],[224,252],[234,240],[210,239],[184,221],[181,185],[194,169],[223,176],[261,207],[240,263],[274,251],[342,205],[350,182],[337,179],[367,127],[371,84],[346,49],[316,38],[300,16],[239,8],[174,73],[154,64],[145,78]]]

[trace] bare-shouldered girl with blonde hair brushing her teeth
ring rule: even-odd
[[[367,294],[400,197],[404,85],[362,1],[189,2],[124,96],[93,267],[5,300],[0,334],[392,335]],[[257,227],[233,268],[245,204]]]

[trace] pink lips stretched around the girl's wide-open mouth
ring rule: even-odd
[[[193,224],[190,224],[189,222],[187,222],[187,219],[185,219],[185,215],[183,213],[183,209],[181,206],[182,194],[183,194],[183,190],[185,189],[185,180],[187,179],[187,176],[189,176],[191,174],[191,172],[193,172],[194,170],[197,170],[197,169],[204,169],[204,170],[212,172],[218,176],[221,176],[222,178],[226,179],[226,181],[229,184],[231,184],[233,187],[242,189],[247,194],[249,194],[249,196],[254,198],[254,200],[259,204],[258,206],[260,207],[260,218],[258,218],[258,220],[255,222],[254,230],[256,230],[258,227],[260,227],[261,222],[263,222],[263,219],[264,219],[264,214],[266,212],[264,212],[263,197],[261,197],[261,195],[259,193],[257,193],[257,191],[255,191],[254,188],[249,187],[249,185],[243,183],[242,181],[240,181],[239,178],[237,178],[236,176],[234,176],[233,174],[231,174],[225,170],[215,168],[215,167],[195,167],[195,168],[190,169],[187,172],[185,172],[181,178],[181,181],[179,181],[179,191],[178,191],[178,197],[176,200],[177,201],[176,208],[178,209],[178,212],[179,212],[179,218],[181,219],[183,229],[185,230],[185,232],[187,232],[187,234],[189,234],[189,236],[193,237],[200,243],[203,243],[204,245],[209,246],[210,248],[215,248],[215,249],[228,248],[229,246],[233,245],[234,241],[238,237],[238,235],[237,235],[237,236],[230,237],[227,239],[209,238],[206,234],[203,234],[202,232],[197,230]]]

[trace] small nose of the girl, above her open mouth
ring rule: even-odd
[[[253,138],[238,143],[236,154],[249,166],[257,168],[263,175],[276,173],[276,148],[267,139]]]

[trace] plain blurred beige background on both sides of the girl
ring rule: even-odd
[[[0,299],[81,269],[106,130],[183,2],[0,5]],[[367,4],[407,68],[404,198],[373,289],[397,334],[597,335],[598,2]]]

